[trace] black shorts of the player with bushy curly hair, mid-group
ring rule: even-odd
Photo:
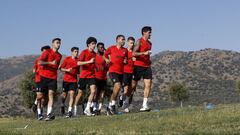
[[[90,87],[91,85],[96,85],[95,78],[80,78],[78,81],[78,89],[85,90],[87,85]]]

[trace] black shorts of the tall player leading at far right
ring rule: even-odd
[[[134,67],[133,80],[139,81],[143,79],[152,79],[152,69],[151,67]]]

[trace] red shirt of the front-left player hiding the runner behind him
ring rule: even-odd
[[[57,70],[62,59],[62,55],[59,52],[54,52],[52,49],[48,49],[42,52],[40,59],[41,61],[51,62],[56,61],[55,65],[47,64],[42,65],[40,76],[45,78],[57,80]]]

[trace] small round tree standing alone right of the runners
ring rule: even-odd
[[[185,84],[179,82],[174,82],[170,84],[170,96],[173,102],[180,102],[181,107],[183,107],[183,101],[187,101],[189,98],[188,89]]]

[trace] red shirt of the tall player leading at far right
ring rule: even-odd
[[[137,52],[146,52],[148,50],[151,50],[152,43],[149,40],[140,38],[139,42],[140,42],[140,46]],[[136,61],[134,62],[134,65],[140,66],[140,67],[150,67],[151,66],[150,55],[136,56]]]

